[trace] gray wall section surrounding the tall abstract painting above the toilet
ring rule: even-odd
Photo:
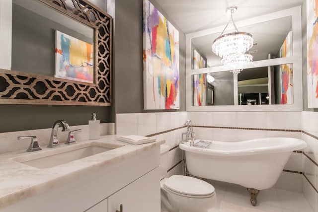
[[[176,28],[175,23],[159,7]],[[179,30],[180,109],[144,110],[143,106],[143,6],[142,0],[115,0],[115,104],[116,113],[185,111],[185,35]]]

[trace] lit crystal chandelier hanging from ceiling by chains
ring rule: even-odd
[[[228,24],[225,26],[221,35],[213,41],[212,51],[222,58],[221,63],[227,64],[242,64],[252,61],[251,54],[246,53],[253,46],[252,35],[247,32],[239,32],[233,20],[233,13],[238,10],[237,6],[230,6],[226,9],[227,13],[231,15]],[[235,32],[224,34],[225,29],[229,23],[233,23]],[[231,70],[238,74],[242,69]]]

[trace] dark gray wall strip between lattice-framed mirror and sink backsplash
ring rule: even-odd
[[[91,1],[106,10],[105,0]],[[0,104],[0,133],[50,128],[58,119],[66,120],[71,126],[86,125],[92,112],[97,113],[101,123],[115,122],[114,106]]]

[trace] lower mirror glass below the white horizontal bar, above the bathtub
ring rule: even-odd
[[[192,82],[193,106],[294,103],[293,64],[245,69],[238,77],[230,71],[193,74]]]

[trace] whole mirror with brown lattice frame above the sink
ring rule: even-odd
[[[111,105],[110,15],[88,0],[0,7],[0,103]]]

